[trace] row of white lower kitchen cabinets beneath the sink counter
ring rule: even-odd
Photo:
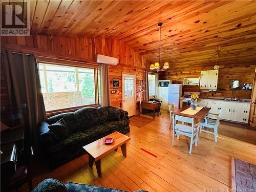
[[[221,119],[248,123],[250,104],[236,101],[198,99],[198,106],[206,106],[210,113],[218,114],[222,109]],[[209,117],[211,117],[209,115]]]

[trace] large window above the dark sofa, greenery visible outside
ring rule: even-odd
[[[99,97],[96,94],[100,77],[99,70],[96,68],[39,63],[39,75],[46,111],[98,104],[99,102]]]

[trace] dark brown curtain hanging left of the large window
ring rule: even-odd
[[[33,54],[2,50],[12,111],[26,109],[22,117],[25,124],[25,143],[38,148],[37,124],[46,119],[44,99],[41,93],[38,64]]]

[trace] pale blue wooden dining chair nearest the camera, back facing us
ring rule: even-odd
[[[182,122],[182,124],[178,122]],[[197,146],[198,144],[199,129],[200,122],[194,124],[194,118],[183,117],[173,114],[173,146],[175,136],[177,136],[177,139],[179,139],[180,134],[190,137],[189,154],[191,154],[193,144],[195,143],[195,146]],[[196,138],[194,139],[194,137]]]

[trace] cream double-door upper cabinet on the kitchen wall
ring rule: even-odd
[[[201,71],[200,89],[217,90],[219,70]]]

